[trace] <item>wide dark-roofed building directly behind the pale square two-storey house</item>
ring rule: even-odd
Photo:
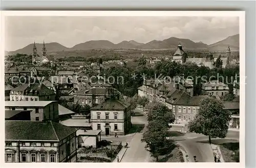
[[[114,88],[90,87],[74,93],[74,103],[95,106],[101,104],[110,96],[117,96],[120,92]]]

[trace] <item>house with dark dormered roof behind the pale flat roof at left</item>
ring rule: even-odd
[[[54,101],[54,91],[39,83],[25,83],[11,90],[10,101]]]

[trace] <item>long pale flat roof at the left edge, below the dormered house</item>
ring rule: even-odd
[[[56,101],[5,101],[6,107],[45,107]]]

